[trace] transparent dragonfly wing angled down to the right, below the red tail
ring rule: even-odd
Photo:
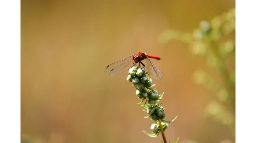
[[[161,79],[162,78],[162,72],[161,70],[151,61],[151,59],[145,54],[147,57],[146,60],[146,71],[149,71],[149,75],[151,75],[155,79]]]

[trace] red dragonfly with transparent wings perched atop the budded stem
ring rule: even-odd
[[[151,75],[153,78],[161,79],[161,70],[151,61],[150,58],[160,60],[160,57],[150,56],[144,52],[139,52],[137,55],[132,54],[120,61],[108,65],[105,68],[105,72],[109,73],[110,76],[126,75],[129,68],[139,63],[139,67],[142,65],[142,68],[144,68],[146,72],[149,72],[149,75]],[[142,63],[142,60],[144,60],[146,64]]]

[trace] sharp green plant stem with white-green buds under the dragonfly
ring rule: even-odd
[[[152,79],[147,76],[148,73],[144,71],[144,68],[132,67],[129,69],[127,80],[132,82],[137,89],[136,95],[141,99],[141,102],[138,104],[141,104],[142,110],[148,114],[145,118],[151,118],[151,120],[155,122],[150,127],[152,133],[147,133],[146,131],[143,132],[150,137],[157,137],[161,132],[164,143],[167,143],[164,131],[167,129],[168,123],[173,122],[178,116],[172,121],[165,120],[165,108],[162,107],[161,104],[158,104],[164,93],[159,95],[158,91],[152,88],[154,86],[152,85]],[[178,140],[176,142],[178,142]]]

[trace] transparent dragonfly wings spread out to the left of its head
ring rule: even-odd
[[[110,76],[122,76],[122,75],[128,75],[129,68],[132,67],[133,56],[135,54],[132,54],[120,61],[114,62],[110,65],[108,65],[105,68],[105,73],[109,73]]]

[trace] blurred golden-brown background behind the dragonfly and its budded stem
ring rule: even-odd
[[[104,68],[139,51],[168,141],[235,142],[235,0],[21,1],[21,142],[155,143],[126,76]],[[127,74],[128,75],[128,74]]]

